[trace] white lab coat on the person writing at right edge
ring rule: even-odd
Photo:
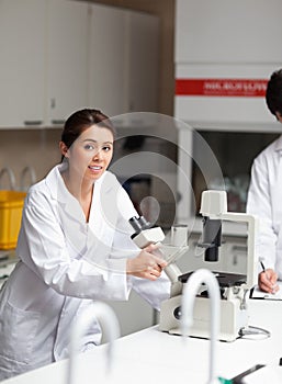
[[[282,136],[253,161],[247,212],[260,219],[259,259],[282,279]]]

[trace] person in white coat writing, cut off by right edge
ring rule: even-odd
[[[270,112],[282,123],[282,69],[274,71],[267,86]],[[253,160],[247,212],[260,217],[258,256],[262,266],[259,287],[278,291],[282,280],[282,136]]]

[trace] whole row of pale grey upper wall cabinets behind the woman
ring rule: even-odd
[[[75,0],[0,0],[0,127],[91,106],[157,112],[158,18]],[[125,121],[121,121],[125,125]]]

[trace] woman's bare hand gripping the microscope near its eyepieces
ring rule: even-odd
[[[166,260],[151,253],[157,249],[158,247],[151,244],[144,248],[136,258],[127,259],[126,273],[137,278],[157,280],[162,269],[167,267]]]

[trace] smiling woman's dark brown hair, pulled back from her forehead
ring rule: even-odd
[[[61,142],[70,148],[82,132],[92,125],[110,129],[115,138],[115,128],[106,115],[99,110],[84,109],[72,113],[67,118],[61,133]]]

